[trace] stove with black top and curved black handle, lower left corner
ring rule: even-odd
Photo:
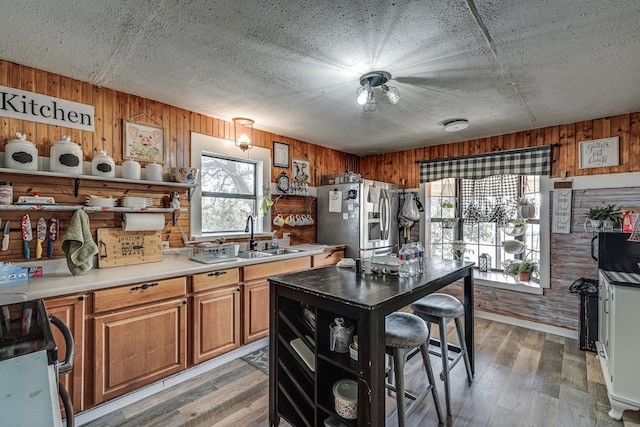
[[[0,425],[62,426],[59,397],[74,425],[73,406],[58,374],[73,367],[73,338],[69,328],[55,316],[47,316],[42,300],[5,305],[0,313]],[[58,362],[58,348],[50,322],[65,337],[65,361]]]

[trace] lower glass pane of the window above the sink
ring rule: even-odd
[[[247,213],[255,212],[255,199],[202,197],[202,232],[243,232]]]

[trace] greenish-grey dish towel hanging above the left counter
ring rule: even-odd
[[[67,257],[67,267],[74,276],[93,268],[93,257],[98,253],[98,245],[91,237],[89,216],[84,210],[78,209],[71,217],[67,233],[62,238],[62,250]]]

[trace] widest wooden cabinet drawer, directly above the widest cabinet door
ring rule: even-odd
[[[93,293],[94,311],[101,312],[123,307],[185,296],[187,281],[184,277],[136,283]]]

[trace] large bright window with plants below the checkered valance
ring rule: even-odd
[[[463,257],[478,267],[480,255],[487,254],[492,271],[503,271],[508,263],[525,257],[540,262],[539,176],[446,178],[426,185],[430,215],[426,236],[431,257]],[[534,206],[530,212],[518,209],[524,200]],[[523,212],[527,218],[523,226],[517,226],[514,220],[521,219]],[[464,250],[457,252],[455,248],[462,242]]]

